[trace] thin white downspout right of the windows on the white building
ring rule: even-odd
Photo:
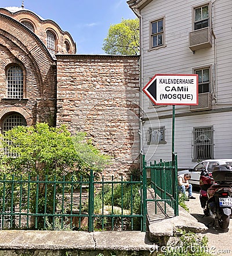
[[[217,0],[215,0],[215,1],[212,2],[212,28],[211,28],[212,35],[213,35],[213,41],[214,41],[214,76],[215,76],[214,79],[213,79],[213,88],[212,88],[212,92],[213,92],[213,99],[215,99],[215,104],[218,103],[218,99],[217,99],[217,95],[218,95],[217,42],[216,42],[216,35],[215,35],[214,31],[213,31],[213,25],[214,25],[214,3],[215,3],[216,1],[217,1]]]

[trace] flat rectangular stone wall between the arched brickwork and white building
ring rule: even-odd
[[[139,57],[57,55],[57,126],[85,131],[113,160],[105,176],[139,168]]]

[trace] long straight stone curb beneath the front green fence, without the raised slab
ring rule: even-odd
[[[0,249],[150,251],[145,232],[1,230]]]

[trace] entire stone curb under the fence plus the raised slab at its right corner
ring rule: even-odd
[[[150,251],[154,241],[163,245],[177,234],[177,229],[201,233],[208,228],[183,208],[179,216],[157,221],[148,226],[149,232],[139,231],[41,231],[1,230],[0,249],[6,250],[118,250]]]

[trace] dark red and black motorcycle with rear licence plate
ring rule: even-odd
[[[232,166],[216,166],[212,175],[202,170],[200,202],[204,215],[217,220],[221,229],[227,229],[232,214]]]

